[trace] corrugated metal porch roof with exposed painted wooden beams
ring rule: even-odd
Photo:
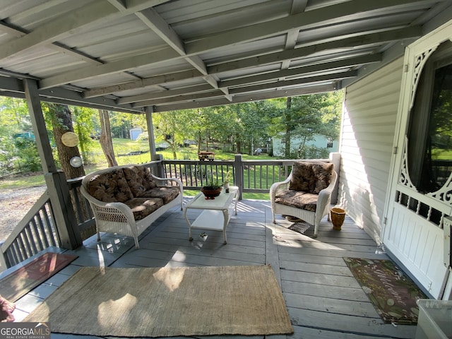
[[[0,95],[31,78],[136,113],[339,89],[452,19],[450,0],[1,2]]]

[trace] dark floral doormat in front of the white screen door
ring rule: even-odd
[[[390,260],[343,258],[385,323],[416,325],[426,295]]]

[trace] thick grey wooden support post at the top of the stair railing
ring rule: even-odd
[[[63,172],[57,170],[54,162],[42,114],[40,97],[37,92],[37,83],[36,81],[25,79],[23,84],[33,132],[35,133],[37,151],[41,158],[42,171],[44,172],[44,179],[49,191],[50,202],[52,203],[60,246],[64,249],[76,249],[82,245],[81,233],[78,230],[66,176]]]

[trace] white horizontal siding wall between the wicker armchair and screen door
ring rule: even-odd
[[[339,152],[338,204],[380,243],[403,58],[348,86]]]

